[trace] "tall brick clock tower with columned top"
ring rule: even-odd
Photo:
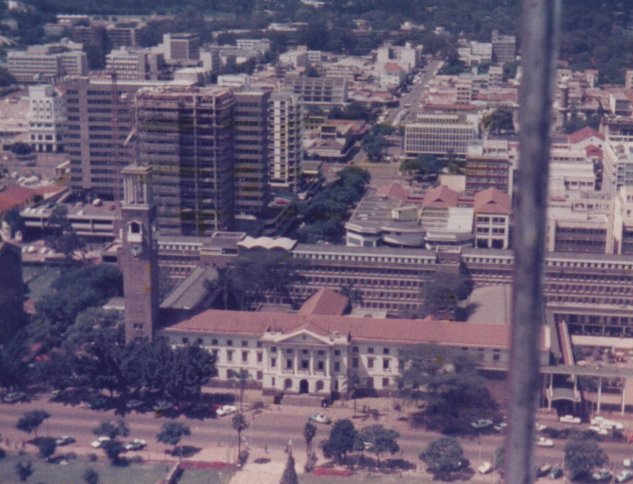
[[[125,342],[153,339],[158,316],[156,204],[151,168],[131,164],[122,170],[119,266],[125,296]]]

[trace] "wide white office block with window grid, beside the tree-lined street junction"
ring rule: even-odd
[[[464,158],[468,144],[479,136],[475,114],[419,113],[414,123],[404,128],[404,151],[415,158],[418,154]]]

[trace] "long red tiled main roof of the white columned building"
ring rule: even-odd
[[[423,320],[351,318],[327,314],[253,313],[209,309],[193,318],[176,323],[168,333],[210,333],[262,336],[266,331],[291,334],[314,330],[323,335],[337,331],[352,340],[396,344],[434,343],[460,347],[510,347],[510,325],[456,323],[439,321],[430,316]],[[546,347],[545,332],[539,346]]]

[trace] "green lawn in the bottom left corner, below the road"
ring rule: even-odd
[[[47,464],[33,456],[15,456],[8,454],[4,459],[0,459],[0,484],[21,483],[15,471],[15,464],[18,461],[33,463],[34,473],[28,478],[27,483],[46,484],[82,484],[84,482],[85,469],[94,469],[99,474],[99,484],[156,484],[157,481],[165,478],[168,464],[155,464],[148,462],[145,464],[130,464],[127,467],[116,468],[108,462],[99,460],[90,462],[87,459],[71,459],[68,465]],[[215,472],[215,471],[214,471]],[[182,483],[193,484],[220,484],[219,480],[211,481],[181,481]],[[221,484],[226,484],[222,481]]]

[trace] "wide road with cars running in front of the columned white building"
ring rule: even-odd
[[[73,450],[73,447],[89,448],[90,442],[95,436],[92,428],[101,421],[118,418],[113,410],[91,410],[85,404],[78,406],[65,406],[57,402],[47,401],[46,396],[34,399],[32,402],[23,402],[14,405],[0,405],[0,433],[4,438],[9,438],[11,442],[21,442],[30,438],[22,431],[15,428],[15,423],[26,411],[34,409],[45,409],[51,414],[39,429],[39,435],[50,435],[60,437],[61,435],[72,435],[77,439],[75,444],[65,447]],[[244,438],[249,442],[251,448],[283,449],[289,439],[303,449],[303,425],[306,423],[306,416],[309,413],[318,411],[310,407],[282,406],[278,410],[276,406],[265,409],[262,414],[255,416],[253,412],[246,412],[248,420],[251,422],[249,430],[244,432]],[[351,417],[350,409],[333,408],[327,413],[332,419]],[[280,418],[281,417],[281,418]],[[356,428],[365,425],[380,423],[385,427],[392,427],[400,433],[398,443],[403,450],[402,457],[411,462],[418,461],[418,454],[429,442],[439,437],[437,432],[424,430],[410,430],[406,422],[398,420],[395,412],[389,414],[385,412],[378,421],[370,419],[353,419]],[[156,418],[153,412],[137,413],[132,411],[125,416],[125,421],[130,428],[132,438],[143,438],[148,442],[147,451],[163,453],[168,446],[156,442],[156,433],[160,426],[167,421],[166,418]],[[209,418],[191,419],[180,417],[182,421],[191,428],[191,436],[187,437],[184,444],[199,447],[227,447],[234,438],[234,431],[231,428],[231,419]],[[329,426],[316,424],[318,427],[315,442],[325,438]],[[465,450],[465,455],[473,465],[478,466],[481,461],[489,461],[494,450],[503,445],[503,435],[482,435],[481,437],[463,437],[459,439]],[[563,459],[563,447],[565,442],[555,440],[553,448],[537,447],[536,462],[555,463]],[[630,444],[620,444],[615,442],[603,442],[600,444],[610,456],[611,461],[616,463],[616,470],[622,468],[622,460],[633,457],[633,450]]]

